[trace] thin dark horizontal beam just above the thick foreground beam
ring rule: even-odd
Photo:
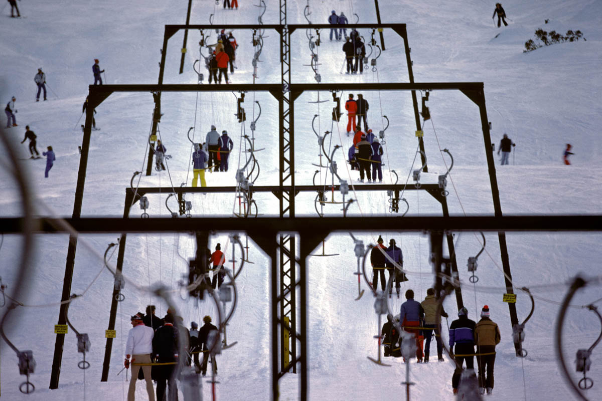
[[[335,191],[338,191],[340,185],[335,185]],[[405,188],[404,188],[405,187]],[[194,194],[194,193],[206,193],[206,192],[228,192],[233,193],[236,192],[235,186],[176,186],[172,188],[171,186],[163,186],[163,187],[138,187],[134,188],[126,188],[126,192],[135,192],[138,195],[143,194],[170,194],[175,191],[176,194]],[[278,185],[258,185],[252,186],[251,192],[275,192],[284,189],[285,191],[292,191],[291,186],[280,187]],[[331,191],[332,185],[296,185],[296,192],[317,192],[317,191]],[[350,186],[349,191],[388,191],[389,189],[393,191],[416,191],[418,189],[424,191],[437,191],[439,189],[438,184],[422,184],[420,188],[416,188],[414,184],[410,185],[402,185],[402,184],[374,184],[374,185],[353,185],[353,188]]]

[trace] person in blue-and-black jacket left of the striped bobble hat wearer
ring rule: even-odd
[[[470,357],[455,357],[456,370],[452,376],[453,393],[458,394],[458,385],[462,375],[462,364],[466,361],[466,369],[474,369],[474,320],[468,319],[468,309],[460,308],[458,311],[458,320],[454,320],[450,326],[450,357],[454,358],[454,354],[470,355]],[[453,346],[456,344],[456,348]]]

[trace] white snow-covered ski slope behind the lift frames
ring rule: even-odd
[[[278,23],[278,3],[268,1],[264,23]],[[344,11],[350,20],[357,13],[360,22],[376,22],[371,1],[309,1],[314,23],[325,22],[330,10]],[[497,168],[497,179],[503,212],[521,213],[600,213],[602,188],[597,177],[601,165],[599,127],[602,125],[601,99],[602,2],[597,0],[533,0],[508,1],[504,8],[512,20],[506,28],[495,28],[489,21],[494,2],[467,0],[445,1],[380,1],[383,22],[401,22],[408,25],[409,46],[412,47],[416,82],[470,81],[485,82],[488,118],[492,122],[492,141],[496,146],[501,135],[507,132],[517,143],[515,165]],[[305,1],[290,2],[289,23],[303,23]],[[149,84],[157,82],[160,52],[163,43],[163,25],[184,23],[187,2],[46,2],[30,0],[19,2],[26,19],[5,17],[0,24],[0,66],[2,79],[0,93],[3,102],[11,94],[17,97],[17,123],[19,127],[6,130],[16,144],[22,139],[26,124],[38,135],[38,149],[54,147],[57,161],[49,179],[43,179],[44,162],[24,161],[19,168],[28,171],[36,191],[37,213],[49,212],[48,205],[58,216],[69,216],[73,209],[73,195],[79,165],[78,145],[81,132],[77,123],[80,108],[92,84],[93,58],[101,60],[110,84]],[[7,8],[2,11],[7,15]],[[240,0],[238,11],[214,8],[211,1],[194,1],[191,23],[208,23],[209,14],[215,13],[214,23],[255,23],[259,10],[255,5]],[[544,19],[550,22],[544,25]],[[523,54],[526,40],[533,38],[537,28],[580,29],[587,41],[556,44]],[[237,83],[252,82],[250,61],[253,49],[250,32],[234,32],[240,48],[237,52],[238,70],[232,75]],[[369,37],[370,32],[361,31]],[[166,62],[166,83],[196,83],[192,63],[198,55],[195,43],[198,32],[188,36],[189,52],[185,73],[178,75],[180,48],[184,32],[178,32],[169,41]],[[378,72],[362,76],[340,75],[343,61],[342,43],[327,40],[327,30],[321,32],[323,45],[319,47],[320,74],[323,82],[408,82],[403,41],[391,31],[385,31],[386,51],[378,60]],[[499,34],[499,35],[498,35]],[[497,35],[497,36],[496,36]],[[259,64],[259,83],[278,83],[278,37],[266,32],[264,51]],[[215,39],[215,34],[213,34]],[[309,67],[305,32],[293,35],[293,81],[314,82]],[[49,88],[48,102],[34,101],[33,76],[37,68],[46,73]],[[417,143],[415,123],[409,93],[365,93],[370,102],[369,122],[382,129],[379,116],[388,115],[391,126],[386,134],[386,168],[399,174],[405,182],[412,170]],[[345,99],[343,94],[341,99]],[[296,183],[311,183],[317,163],[317,145],[311,130],[311,118],[318,106],[306,102],[317,99],[315,93],[305,93],[296,102]],[[330,99],[327,92],[320,99]],[[274,185],[278,180],[278,115],[277,103],[265,93],[247,94],[244,106],[247,117],[253,115],[251,100],[259,100],[262,115],[258,121],[256,144],[265,147],[258,153],[261,174],[256,185]],[[3,105],[5,103],[2,103]],[[197,107],[198,105],[198,107]],[[382,107],[382,111],[381,111]],[[429,158],[429,171],[423,182],[436,182],[437,174],[445,171],[447,155],[439,156],[442,148],[450,149],[455,158],[448,186],[450,213],[461,215],[491,214],[491,191],[478,109],[461,93],[455,91],[433,92],[429,100],[432,123],[424,126],[424,141]],[[207,174],[208,185],[235,185],[235,167],[238,164],[238,135],[240,124],[234,119],[234,96],[224,94],[164,93],[162,97],[161,138],[169,161],[170,177],[157,174],[142,177],[141,186],[190,185],[190,143],[185,138],[188,127],[195,126],[195,138],[203,138],[214,123],[218,129],[227,129],[235,139],[231,156],[231,170],[227,174]],[[319,132],[332,130],[332,146],[342,144],[349,148],[350,139],[344,135],[344,124],[332,126],[332,103],[321,103]],[[82,215],[120,216],[123,210],[123,190],[129,185],[131,174],[144,168],[146,138],[151,126],[153,102],[151,94],[112,94],[97,109],[96,121],[100,131],[93,132],[90,159],[85,183]],[[256,110],[255,110],[256,112]],[[318,122],[317,121],[317,122]],[[4,122],[4,116],[2,116]],[[82,121],[81,121],[82,122]],[[248,123],[249,121],[247,121]],[[375,124],[376,123],[376,124]],[[343,132],[341,132],[343,131]],[[249,126],[246,126],[249,132]],[[339,135],[339,132],[340,135]],[[435,135],[436,132],[436,135]],[[574,146],[573,166],[561,164],[564,144]],[[19,145],[19,144],[17,144]],[[330,145],[330,143],[329,143]],[[20,157],[27,156],[26,145]],[[133,156],[133,157],[132,157]],[[339,171],[347,176],[344,156],[337,154]],[[244,155],[243,155],[244,159]],[[413,168],[420,167],[416,162]],[[394,177],[383,171],[385,182]],[[393,178],[392,178],[393,177]],[[353,180],[356,179],[354,175]],[[326,181],[325,181],[326,180]],[[322,175],[320,182],[329,183],[330,176]],[[0,204],[3,216],[20,215],[20,200],[16,184],[9,170],[0,170]],[[167,194],[149,195],[151,217],[168,216],[164,206]],[[340,195],[336,194],[337,198]],[[358,205],[352,206],[351,215],[388,215],[388,200],[382,192],[352,194]],[[438,204],[430,195],[420,191],[405,194],[410,215],[440,215]],[[232,195],[188,195],[193,202],[193,214],[229,216],[234,207]],[[297,197],[297,214],[314,215],[314,195]],[[272,195],[256,195],[259,212],[275,215],[278,210]],[[173,208],[173,206],[172,206]],[[340,216],[337,206],[327,206],[326,215]],[[137,218],[137,207],[130,217]],[[378,232],[359,236],[365,243],[374,243]],[[152,285],[163,283],[177,288],[182,274],[187,272],[186,260],[193,256],[194,241],[185,234],[128,235],[124,273],[131,280],[126,284],[126,299],[120,303],[117,319],[117,338],[114,341],[109,381],[99,381],[104,356],[104,330],[107,328],[110,294],[113,277],[103,270],[102,255],[107,244],[114,242],[113,235],[81,235],[75,260],[72,292],[85,295],[73,302],[69,317],[81,332],[87,332],[92,349],[86,358],[92,366],[79,370],[76,364],[81,355],[76,353],[76,339],[72,332],[66,335],[60,387],[48,390],[57,322],[58,305],[67,253],[66,234],[38,235],[33,254],[33,277],[27,283],[29,295],[20,299],[27,305],[20,307],[7,320],[5,329],[19,349],[32,349],[37,361],[36,373],[31,381],[37,387],[34,394],[25,396],[17,390],[23,381],[18,375],[14,352],[0,343],[2,396],[8,400],[31,399],[125,399],[127,383],[116,373],[122,367],[123,343],[129,329],[128,317],[143,311],[147,304],[156,304],[158,315],[163,316],[166,305],[148,292],[136,290],[131,283]],[[389,239],[389,236],[385,236]],[[417,299],[423,299],[432,285],[429,265],[429,240],[419,234],[396,234],[405,256],[405,267],[410,280],[402,291],[412,288]],[[243,237],[244,238],[244,237]],[[592,233],[509,233],[507,244],[510,267],[518,287],[530,287],[538,296],[535,314],[526,326],[525,349],[529,355],[524,360],[514,357],[512,329],[506,304],[501,302],[503,274],[497,236],[486,234],[486,253],[479,258],[479,283],[463,287],[464,303],[475,318],[484,304],[491,309],[492,319],[501,331],[495,364],[495,393],[491,399],[571,399],[573,395],[565,386],[556,364],[553,348],[553,330],[558,305],[568,289],[565,285],[576,274],[595,275],[600,272],[601,234]],[[211,248],[222,243],[226,255],[231,256],[231,242],[225,234],[211,237]],[[89,248],[87,247],[89,246]],[[400,360],[388,359],[392,367],[380,367],[367,360],[376,356],[377,334],[373,299],[366,293],[354,301],[357,293],[356,261],[353,243],[347,234],[332,234],[326,242],[327,253],[340,255],[309,259],[309,395],[311,399],[377,400],[404,397],[400,382],[405,379],[405,365]],[[467,279],[464,261],[480,249],[477,237],[471,233],[456,235],[456,257],[462,280]],[[16,286],[17,261],[20,255],[20,238],[4,236],[0,249],[2,268],[0,275],[8,284],[8,293]],[[259,249],[250,242],[249,259],[237,280],[238,308],[228,326],[228,340],[238,341],[232,349],[219,357],[218,399],[270,398],[270,310],[269,265]],[[111,262],[114,263],[116,256]],[[98,276],[96,281],[93,281]],[[92,286],[87,287],[92,283]],[[551,284],[547,287],[536,287]],[[365,289],[364,284],[362,287]],[[87,289],[87,290],[86,290]],[[178,307],[188,324],[199,322],[205,314],[216,315],[213,304],[179,298]],[[577,293],[574,305],[587,305],[601,298],[600,287],[588,286]],[[402,300],[391,299],[391,308],[399,310]],[[445,301],[445,309],[454,316],[455,299]],[[517,296],[519,319],[529,313],[530,302],[524,293]],[[2,311],[4,313],[4,310]],[[574,355],[578,348],[587,348],[597,338],[600,324],[584,308],[571,308],[563,327],[565,347],[563,354],[574,370]],[[435,354],[433,349],[431,355]],[[592,370],[588,373],[594,387],[588,390],[589,399],[601,399],[599,349],[592,355]],[[524,368],[523,368],[524,364]],[[412,399],[452,399],[450,363],[428,365],[411,364]],[[580,378],[573,373],[574,381]],[[297,399],[297,375],[287,375],[280,381],[281,398]],[[146,397],[142,385],[137,396]],[[204,384],[204,399],[210,399],[209,385]],[[140,398],[138,398],[140,399]]]

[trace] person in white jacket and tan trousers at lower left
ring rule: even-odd
[[[144,326],[144,322],[142,322],[142,317],[140,315],[135,314],[130,320],[132,322],[132,328],[128,332],[128,341],[125,344],[125,361],[123,362],[126,369],[129,367],[130,357],[132,358],[132,363],[151,363],[152,338],[155,335],[155,331],[152,328]],[[152,387],[151,379],[151,366],[146,365],[134,365],[134,367],[132,367],[132,378],[129,381],[128,388],[128,401],[134,401],[136,380],[138,379],[138,372],[140,369],[144,372],[146,393],[148,393],[149,401],[155,401],[155,389]]]

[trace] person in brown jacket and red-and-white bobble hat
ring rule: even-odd
[[[474,343],[477,344],[477,368],[479,369],[480,393],[493,393],[493,366],[495,364],[495,346],[500,343],[498,326],[489,319],[489,307],[481,310],[481,320],[474,326]],[[489,355],[486,355],[489,354]],[[485,377],[485,370],[487,376]]]

